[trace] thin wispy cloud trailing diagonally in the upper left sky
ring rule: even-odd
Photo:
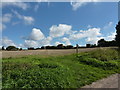
[[[26,25],[31,25],[34,23],[34,18],[31,17],[31,16],[24,16],[24,15],[21,15],[19,14],[17,11],[15,10],[12,10],[12,12],[21,20],[23,20],[23,22],[26,24]]]

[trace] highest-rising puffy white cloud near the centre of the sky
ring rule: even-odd
[[[61,37],[64,36],[65,34],[69,33],[71,31],[72,26],[66,25],[66,24],[59,24],[53,25],[50,28],[50,36],[51,37]]]

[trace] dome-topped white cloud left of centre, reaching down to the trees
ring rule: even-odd
[[[28,37],[23,37],[25,39],[25,47],[41,47],[50,45],[52,37],[45,37],[40,29],[33,28],[31,34]]]

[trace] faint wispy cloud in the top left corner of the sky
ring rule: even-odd
[[[2,2],[2,8],[7,7],[7,6],[15,6],[23,10],[26,10],[29,8],[28,3],[17,2],[17,0],[8,0],[6,2]]]

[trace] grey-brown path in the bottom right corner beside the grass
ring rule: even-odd
[[[82,88],[118,88],[120,87],[120,74],[113,74],[107,78],[93,82],[90,85],[86,85]],[[119,84],[119,85],[118,85]]]

